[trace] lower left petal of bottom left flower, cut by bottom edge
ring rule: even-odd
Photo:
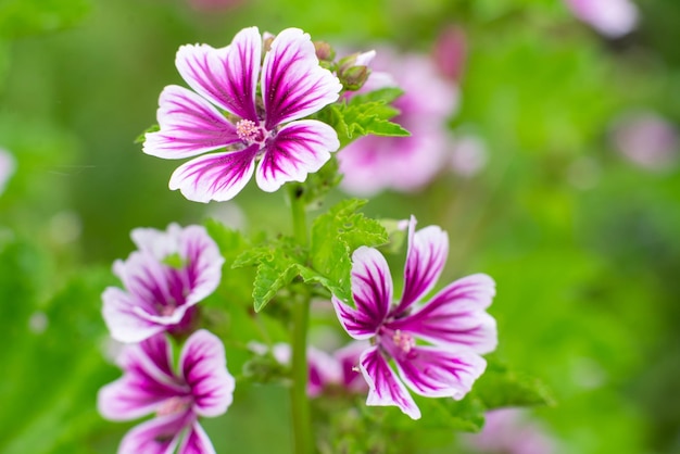
[[[123,437],[118,454],[172,454],[191,419],[193,416],[190,414],[175,413],[135,426]]]

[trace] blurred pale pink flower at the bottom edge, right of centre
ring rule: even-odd
[[[478,453],[553,454],[556,443],[536,423],[517,408],[487,413],[481,432],[467,434],[465,443]]]

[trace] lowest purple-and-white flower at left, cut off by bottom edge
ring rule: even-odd
[[[117,361],[123,377],[99,391],[99,412],[108,419],[130,420],[155,413],[127,432],[118,453],[215,452],[198,419],[219,416],[231,404],[235,380],[227,370],[224,345],[214,335],[199,330],[182,346],[177,371],[172,358],[164,335],[126,345]]]

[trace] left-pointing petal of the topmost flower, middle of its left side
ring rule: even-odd
[[[186,88],[165,87],[159,104],[161,130],[144,135],[147,154],[176,160],[240,141],[236,127],[217,109]]]

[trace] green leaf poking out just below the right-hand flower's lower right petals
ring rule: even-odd
[[[493,360],[489,361],[473,391],[488,409],[555,404],[552,392],[541,380],[509,370]]]

